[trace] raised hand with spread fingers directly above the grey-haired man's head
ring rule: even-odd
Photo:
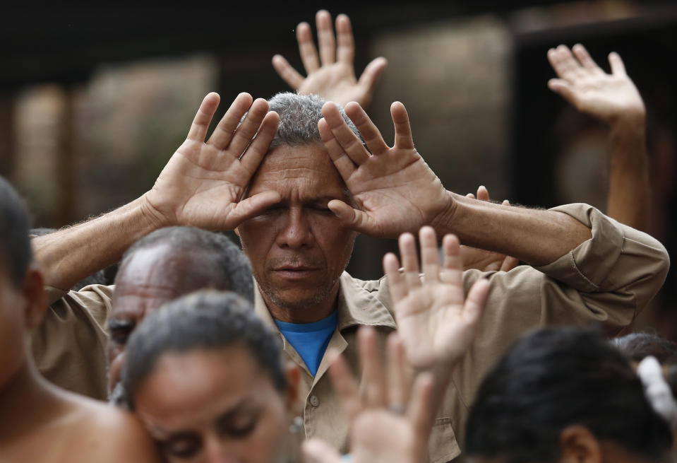
[[[316,93],[340,105],[357,101],[363,107],[368,106],[378,77],[388,61],[383,57],[374,59],[367,64],[358,79],[354,68],[355,42],[348,16],[340,14],[336,17],[336,35],[328,11],[318,11],[316,24],[319,54],[313,42],[311,26],[308,23],[296,26],[296,40],[299,42],[306,77],[299,74],[280,54],[272,57],[275,71],[299,93]]]

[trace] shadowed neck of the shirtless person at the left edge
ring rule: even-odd
[[[58,405],[56,389],[26,359],[0,389],[0,443],[44,424]]]

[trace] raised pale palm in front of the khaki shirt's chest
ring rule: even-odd
[[[450,367],[465,354],[474,339],[489,282],[477,281],[466,297],[458,239],[454,235],[444,237],[443,264],[440,264],[433,228],[421,228],[419,240],[422,279],[413,235],[405,233],[400,237],[404,272],[400,273],[400,263],[394,254],[383,258],[397,331],[414,368]]]

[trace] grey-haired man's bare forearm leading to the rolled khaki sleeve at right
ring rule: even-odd
[[[464,245],[501,252],[541,266],[592,237],[590,228],[558,211],[503,206],[449,192],[450,207],[433,224]]]

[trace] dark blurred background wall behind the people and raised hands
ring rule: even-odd
[[[388,58],[370,115],[392,139],[390,102],[445,187],[493,199],[604,210],[607,133],[548,90],[546,51],[582,42],[604,69],[621,54],[645,98],[652,235],[677,250],[677,5],[669,1],[352,1],[207,7],[13,6],[0,15],[0,174],[34,225],[61,227],[138,197],[186,136],[203,95],[287,90],[294,28],[347,13],[357,73]],[[227,106],[227,105],[226,105]],[[222,110],[220,112],[222,114]],[[395,242],[360,237],[349,271],[381,276]],[[677,340],[677,272],[638,322]],[[519,310],[516,307],[515,310]]]

